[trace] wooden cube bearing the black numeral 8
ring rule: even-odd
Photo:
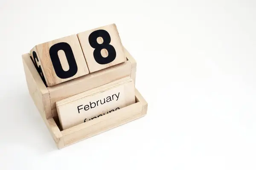
[[[126,61],[115,24],[84,31],[77,36],[90,73]]]

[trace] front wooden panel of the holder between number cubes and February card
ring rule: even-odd
[[[58,115],[55,104],[57,101],[128,76],[131,76],[131,62],[127,61],[59,85],[48,87],[52,116]]]

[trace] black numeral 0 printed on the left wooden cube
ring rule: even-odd
[[[69,65],[68,71],[64,71],[61,66],[61,61],[58,57],[58,51],[60,50],[63,50],[67,57],[67,62]],[[77,73],[78,68],[76,65],[76,59],[73,54],[72,48],[67,42],[59,42],[55,45],[52,45],[49,50],[49,54],[52,60],[52,65],[55,70],[55,73],[59,78],[67,79],[67,78],[73,77]]]

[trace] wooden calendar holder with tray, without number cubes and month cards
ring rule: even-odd
[[[70,127],[66,130],[61,130],[59,124],[55,106],[55,102],[58,100],[99,87],[123,77],[130,76],[135,83],[136,61],[126,49],[125,55],[127,61],[124,63],[63,82],[59,85],[46,87],[33,65],[29,54],[23,54],[23,66],[29,94],[59,149],[145,116],[148,104],[140,92],[135,89],[136,103],[132,105],[100,116],[97,119]]]

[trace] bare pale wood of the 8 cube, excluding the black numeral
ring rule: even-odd
[[[95,48],[93,48],[90,45],[90,42],[88,41],[88,39],[89,39],[90,34],[94,31],[96,31],[96,30],[108,31],[108,34],[111,37],[110,45],[112,45],[113,48],[116,51],[115,59],[112,62],[108,63],[108,64],[99,64],[98,62],[96,62],[96,60],[94,58],[93,52],[95,51]],[[119,37],[119,34],[118,34],[118,31],[117,31],[117,28],[116,28],[115,24],[111,24],[111,25],[108,25],[108,26],[102,26],[102,27],[95,28],[95,29],[92,29],[92,30],[89,30],[89,31],[84,31],[84,32],[81,32],[81,33],[77,34],[77,36],[79,38],[79,42],[81,44],[81,48],[83,50],[84,57],[86,59],[86,62],[87,62],[90,73],[95,72],[95,71],[99,71],[99,70],[102,70],[104,68],[108,68],[108,67],[111,67],[113,65],[116,65],[116,64],[119,64],[119,63],[122,63],[122,62],[126,61],[125,54],[124,54],[124,49],[123,49],[123,46],[122,46],[122,42],[120,40],[120,37]],[[97,42],[95,42],[94,44],[96,44],[96,43],[99,43],[99,44],[104,43],[104,37],[99,37],[97,39]],[[102,54],[103,57],[108,57],[108,51],[105,48],[102,49],[101,54]]]

